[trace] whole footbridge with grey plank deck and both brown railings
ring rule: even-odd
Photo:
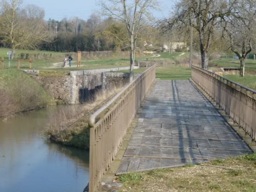
[[[90,117],[89,191],[98,188],[136,114],[117,175],[253,153],[198,87],[255,140],[254,90],[195,66],[192,80],[155,80],[152,66]]]

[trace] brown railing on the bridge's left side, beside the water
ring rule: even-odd
[[[102,176],[116,157],[126,131],[154,80],[155,65],[90,116],[89,192],[97,190]]]

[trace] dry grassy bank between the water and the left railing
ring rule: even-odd
[[[121,89],[118,87],[106,93],[98,92],[94,99],[82,105],[62,106],[50,115],[49,123],[44,128],[44,138],[67,146],[89,149],[88,117]]]

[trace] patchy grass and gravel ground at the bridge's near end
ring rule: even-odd
[[[118,179],[124,184],[120,192],[255,192],[256,154],[128,173]]]

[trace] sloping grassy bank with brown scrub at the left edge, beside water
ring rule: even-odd
[[[0,71],[0,117],[54,104],[52,97],[28,74]]]

